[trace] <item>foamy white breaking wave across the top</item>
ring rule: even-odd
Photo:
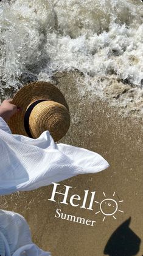
[[[140,0],[1,1],[1,95],[79,70],[80,95],[142,116],[142,17]]]

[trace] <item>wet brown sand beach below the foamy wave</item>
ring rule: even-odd
[[[141,256],[141,122],[139,119],[123,118],[116,108],[111,108],[96,97],[91,102],[89,94],[81,99],[75,86],[77,77],[78,73],[58,73],[54,78],[65,94],[71,111],[71,127],[60,142],[98,152],[108,160],[110,167],[94,175],[78,175],[60,182],[60,191],[64,192],[64,185],[72,186],[69,196],[78,194],[83,198],[84,190],[96,190],[96,201],[99,202],[105,199],[105,192],[106,198],[114,198],[117,202],[124,200],[119,203],[119,209],[124,213],[117,211],[114,214],[116,219],[106,216],[103,221],[104,215],[101,212],[95,214],[100,210],[98,203],[94,203],[94,211],[72,207],[70,204],[63,205],[60,196],[57,197],[57,203],[54,203],[48,200],[51,198],[52,185],[1,197],[0,207],[22,214],[30,225],[34,243],[43,250],[51,251],[53,256],[102,256],[104,251],[110,256]],[[62,213],[96,220],[96,225],[88,227],[57,219],[54,217],[57,208]],[[105,249],[107,243],[109,248]],[[119,244],[123,249],[116,252]]]

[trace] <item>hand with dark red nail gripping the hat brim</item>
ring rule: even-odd
[[[12,104],[12,99],[4,100],[0,106],[0,116],[4,119],[5,122],[8,122],[10,117],[15,113],[21,111],[20,107]]]

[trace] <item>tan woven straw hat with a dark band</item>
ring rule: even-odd
[[[12,104],[22,108],[9,119],[12,134],[38,138],[49,130],[54,141],[58,141],[68,132],[69,107],[61,91],[51,83],[38,81],[23,86]]]

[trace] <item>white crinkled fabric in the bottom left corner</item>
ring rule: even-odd
[[[1,256],[51,256],[32,243],[29,225],[23,216],[0,209]]]

